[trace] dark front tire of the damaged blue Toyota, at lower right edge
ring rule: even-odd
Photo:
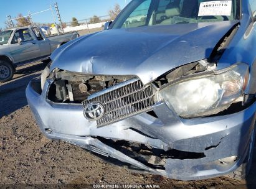
[[[242,165],[240,165],[237,170],[226,175],[229,178],[233,178],[235,180],[245,180],[247,175],[249,175],[250,168],[252,167],[253,157],[254,157],[254,145],[255,145],[255,127],[252,131],[252,135],[250,137],[249,150],[245,157],[245,160]]]

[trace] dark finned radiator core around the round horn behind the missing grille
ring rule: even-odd
[[[90,96],[90,94],[97,93],[98,91],[102,91],[104,88],[102,85],[100,85],[100,81],[92,80],[90,83],[87,84],[88,91],[87,92],[81,92],[79,89],[79,85],[81,82],[72,82],[72,92],[73,92],[73,100],[82,102],[85,101],[85,99]]]

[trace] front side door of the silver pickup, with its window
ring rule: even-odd
[[[21,39],[22,42],[19,43],[18,39]],[[10,50],[15,62],[24,62],[40,57],[39,44],[36,39],[33,39],[28,28],[16,30],[12,37]]]

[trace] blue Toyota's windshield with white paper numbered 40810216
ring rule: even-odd
[[[133,0],[112,29],[239,19],[240,1]]]

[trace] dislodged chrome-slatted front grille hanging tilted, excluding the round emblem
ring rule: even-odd
[[[154,104],[154,94],[152,85],[143,86],[140,80],[135,80],[128,85],[83,101],[83,107],[92,102],[102,104],[105,113],[97,120],[97,124],[104,126],[149,111]]]

